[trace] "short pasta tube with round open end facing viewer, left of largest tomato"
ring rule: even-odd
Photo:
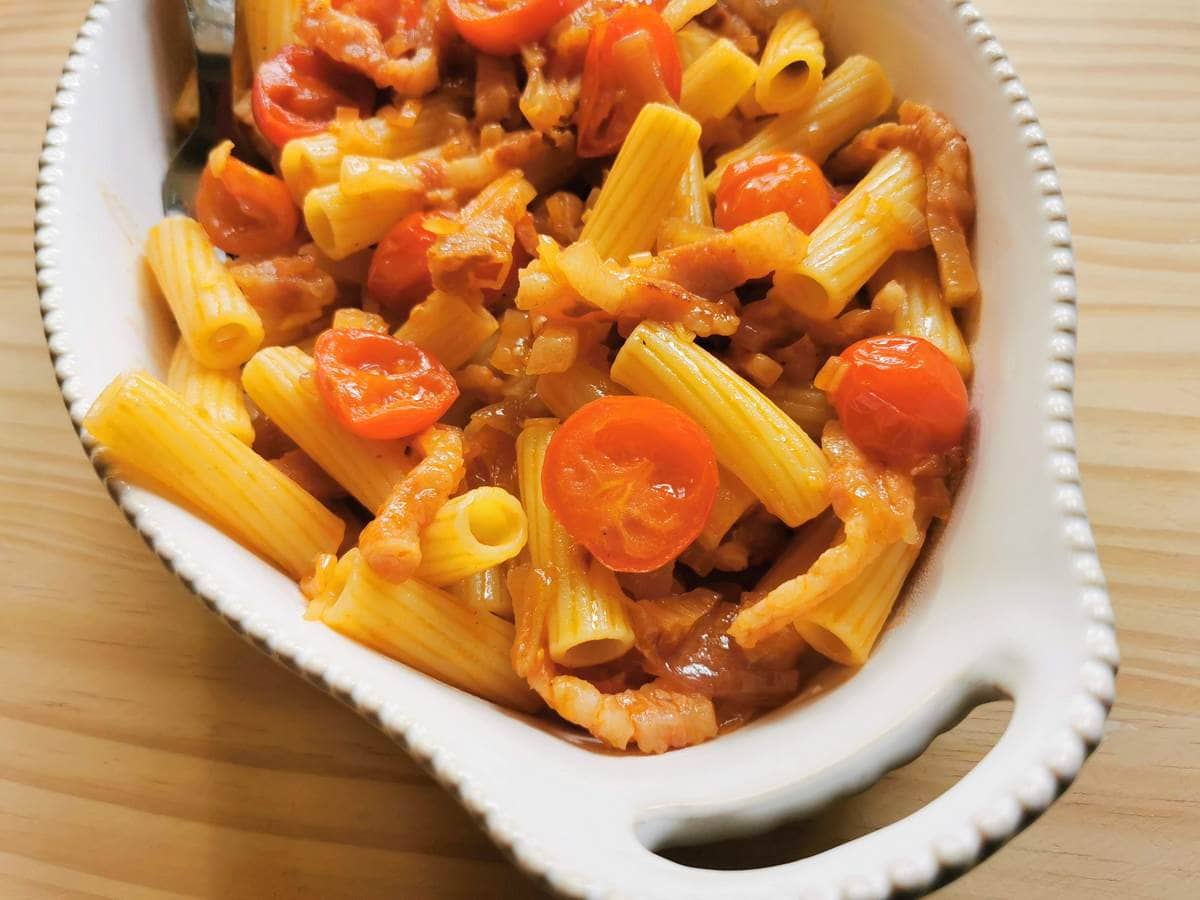
[[[446,500],[421,532],[416,577],[444,587],[512,559],[526,545],[521,502],[503,487],[475,487]]]

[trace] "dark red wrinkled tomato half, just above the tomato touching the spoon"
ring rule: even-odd
[[[311,47],[289,44],[254,73],[254,125],[275,146],[329,127],[338,107],[362,115],[374,109],[376,86],[366,76]]]

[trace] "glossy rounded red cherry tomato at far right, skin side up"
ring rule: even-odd
[[[830,391],[846,434],[864,452],[916,466],[962,442],[967,389],[949,358],[929,341],[869,337],[841,353]]]

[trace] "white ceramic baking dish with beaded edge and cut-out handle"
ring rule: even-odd
[[[816,4],[836,53],[878,58],[974,151],[983,317],[979,428],[954,517],[898,622],[845,684],[660,757],[599,752],[305,622],[295,586],[214,528],[109,481],[154,551],[236,631],[377,724],[516,862],[577,896],[883,898],[970,868],[1044,810],[1100,739],[1117,648],[1072,431],[1075,280],[1058,180],[1028,97],[961,0]],[[169,0],[101,0],[46,134],[37,266],[78,428],[120,370],[162,373],[167,314],[139,248],[170,143]],[[172,19],[173,22],[174,19]],[[180,54],[175,54],[179,56]],[[83,436],[85,445],[90,440]],[[102,466],[98,466],[102,472]],[[924,809],[768,869],[689,869],[647,847],[766,828],[866,786],[980,700],[1015,700],[1000,743]]]

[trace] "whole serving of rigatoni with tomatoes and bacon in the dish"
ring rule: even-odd
[[[954,124],[791,2],[239,6],[274,169],[151,230],[175,390],[97,400],[113,474],[616,750],[863,665],[966,462]]]

